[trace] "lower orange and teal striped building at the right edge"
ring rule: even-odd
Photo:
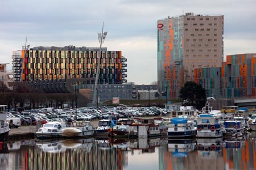
[[[221,67],[195,69],[195,82],[207,90],[208,96],[256,96],[256,53],[226,56]]]

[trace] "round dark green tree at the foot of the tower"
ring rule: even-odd
[[[205,89],[195,82],[186,82],[185,86],[179,91],[180,99],[182,103],[187,106],[196,107],[196,109],[201,109],[205,106],[207,101],[207,94]]]

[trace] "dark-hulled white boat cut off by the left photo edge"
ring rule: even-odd
[[[0,142],[6,141],[10,131],[9,123],[6,121],[6,116],[7,113],[0,112]]]

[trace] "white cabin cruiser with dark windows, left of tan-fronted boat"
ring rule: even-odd
[[[36,131],[38,138],[57,138],[62,136],[62,129],[67,128],[67,125],[62,122],[47,122]]]

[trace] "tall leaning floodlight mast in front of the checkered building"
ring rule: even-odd
[[[101,45],[103,44],[104,40],[106,39],[106,35],[108,32],[103,32],[103,28],[104,28],[104,22],[102,25],[102,31],[100,33],[98,33],[98,41],[100,42],[100,54],[98,56],[98,61],[97,61],[97,70],[96,70],[96,79],[95,79],[95,85],[94,85],[94,91],[93,91],[93,103],[96,103],[96,95],[97,95],[97,86],[98,86],[98,70],[100,68],[100,61],[101,61]]]

